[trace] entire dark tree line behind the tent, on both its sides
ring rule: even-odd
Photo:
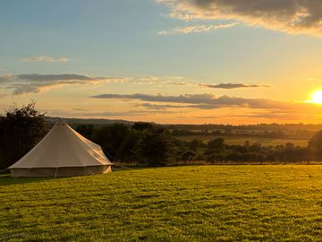
[[[12,108],[0,117],[0,169],[21,159],[47,134],[45,115],[35,103]],[[208,143],[195,139],[182,142],[162,125],[138,122],[132,125],[75,125],[77,132],[99,144],[114,162],[165,166],[204,160],[209,163],[302,162],[322,159],[322,131],[305,147],[293,143],[262,146],[245,141],[242,145],[225,143],[216,138]]]

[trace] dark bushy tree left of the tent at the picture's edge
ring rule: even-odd
[[[7,110],[0,117],[0,169],[20,160],[46,133],[45,116],[35,109],[35,102]]]

